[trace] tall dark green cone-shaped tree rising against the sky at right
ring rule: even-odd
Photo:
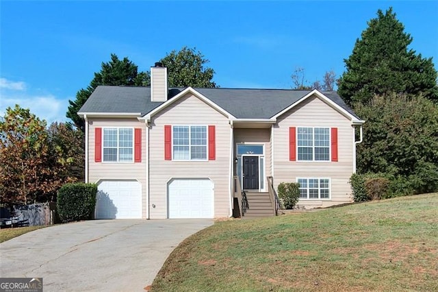
[[[346,60],[346,72],[338,82],[338,93],[352,104],[368,103],[374,95],[422,94],[438,100],[437,71],[432,58],[422,58],[408,49],[413,38],[389,8],[378,10],[377,18],[368,22]]]

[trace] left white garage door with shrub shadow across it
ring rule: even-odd
[[[96,219],[142,218],[142,186],[136,180],[104,180],[97,186]]]

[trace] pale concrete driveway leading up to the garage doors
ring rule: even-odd
[[[42,277],[44,291],[144,291],[170,252],[211,219],[95,220],[0,243],[0,277]]]

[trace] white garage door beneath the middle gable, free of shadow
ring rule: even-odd
[[[213,218],[214,185],[208,178],[174,179],[168,183],[168,217]]]

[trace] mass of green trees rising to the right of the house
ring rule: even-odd
[[[432,58],[408,49],[413,38],[389,8],[356,40],[338,93],[363,125],[357,171],[381,177],[383,197],[438,191],[438,86]],[[385,180],[380,180],[385,182]]]

